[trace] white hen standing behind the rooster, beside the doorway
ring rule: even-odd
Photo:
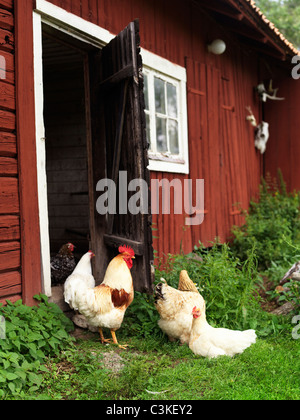
[[[95,287],[95,279],[92,275],[91,259],[94,257],[92,251],[84,254],[76,265],[73,273],[67,278],[64,284],[64,298],[72,309],[78,310],[78,293],[82,287]]]

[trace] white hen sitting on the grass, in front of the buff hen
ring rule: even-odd
[[[234,356],[242,353],[256,341],[254,330],[234,331],[213,328],[206,321],[205,309],[193,308],[193,325],[189,347],[193,353],[204,357]]]

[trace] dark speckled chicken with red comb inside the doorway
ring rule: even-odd
[[[63,245],[55,257],[51,257],[51,283],[52,285],[63,284],[67,277],[76,267],[73,255],[74,245],[68,242]]]

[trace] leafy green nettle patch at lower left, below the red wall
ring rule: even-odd
[[[5,320],[5,334],[0,337],[0,399],[22,396],[25,389],[36,391],[47,370],[46,358],[72,345],[68,334],[72,322],[45,295],[35,299],[38,306],[8,300],[0,307],[0,317]]]

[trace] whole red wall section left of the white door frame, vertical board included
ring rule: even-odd
[[[0,56],[0,303],[33,304],[41,261],[30,1],[0,0]]]

